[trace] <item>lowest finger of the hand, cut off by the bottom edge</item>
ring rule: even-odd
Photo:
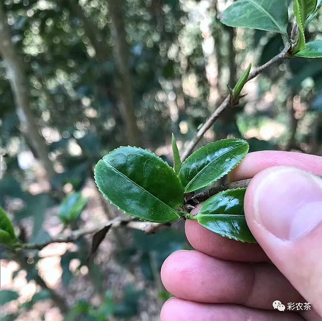
[[[232,304],[205,304],[172,298],[161,311],[160,321],[304,321],[289,312],[265,311]]]

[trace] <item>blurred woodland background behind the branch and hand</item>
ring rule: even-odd
[[[220,24],[229,4],[1,0],[1,205],[21,240],[121,215],[94,185],[98,159],[130,144],[171,164],[171,133],[183,150],[226,85],[278,54],[280,35]],[[321,26],[319,15],[307,40],[322,39]],[[202,144],[244,137],[251,151],[322,155],[322,59],[285,60],[243,92]],[[112,231],[94,260],[88,238],[38,253],[1,247],[2,320],[158,320],[169,297],[160,266],[185,248],[183,222]]]

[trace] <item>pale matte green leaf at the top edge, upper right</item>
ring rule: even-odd
[[[230,27],[275,31],[287,34],[286,0],[238,0],[221,15],[220,21]]]

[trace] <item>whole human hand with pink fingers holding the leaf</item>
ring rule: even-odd
[[[162,280],[175,298],[165,303],[161,321],[322,320],[322,179],[309,172],[322,175],[322,157],[246,157],[230,180],[254,177],[245,214],[258,244],[186,221],[196,251],[178,251],[165,261]],[[274,310],[275,300],[286,306],[284,312]],[[290,312],[289,302],[309,302],[312,308]]]

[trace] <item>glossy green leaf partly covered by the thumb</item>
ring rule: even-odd
[[[207,199],[194,217],[206,229],[236,241],[256,243],[244,213],[246,188],[225,190]]]

